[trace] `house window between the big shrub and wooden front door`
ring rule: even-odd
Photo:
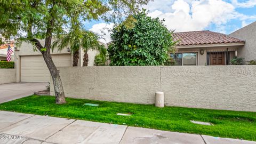
[[[175,53],[171,57],[176,61],[177,66],[196,66],[197,53]]]

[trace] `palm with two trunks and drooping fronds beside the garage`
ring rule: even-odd
[[[53,42],[52,47],[57,47],[58,51],[64,49],[64,47],[70,46],[70,51],[73,53],[73,66],[78,65],[79,50],[84,51],[83,66],[87,66],[89,62],[89,56],[87,52],[89,50],[101,49],[101,45],[98,42],[99,36],[89,30],[74,30],[66,35],[62,35],[56,41]]]

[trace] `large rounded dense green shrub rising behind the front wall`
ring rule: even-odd
[[[108,47],[110,66],[164,65],[169,53],[175,51],[175,42],[173,31],[169,31],[163,21],[148,17],[143,10],[115,27]]]

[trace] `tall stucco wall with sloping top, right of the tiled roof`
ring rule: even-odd
[[[256,22],[251,23],[246,27],[243,27],[229,36],[245,39],[245,45],[238,51],[238,57],[242,57],[245,61],[256,59]]]

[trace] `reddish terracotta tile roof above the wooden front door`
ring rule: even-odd
[[[179,40],[177,45],[199,45],[199,44],[226,44],[243,43],[242,39],[230,37],[225,34],[215,33],[209,30],[189,31],[173,33],[174,41]]]

